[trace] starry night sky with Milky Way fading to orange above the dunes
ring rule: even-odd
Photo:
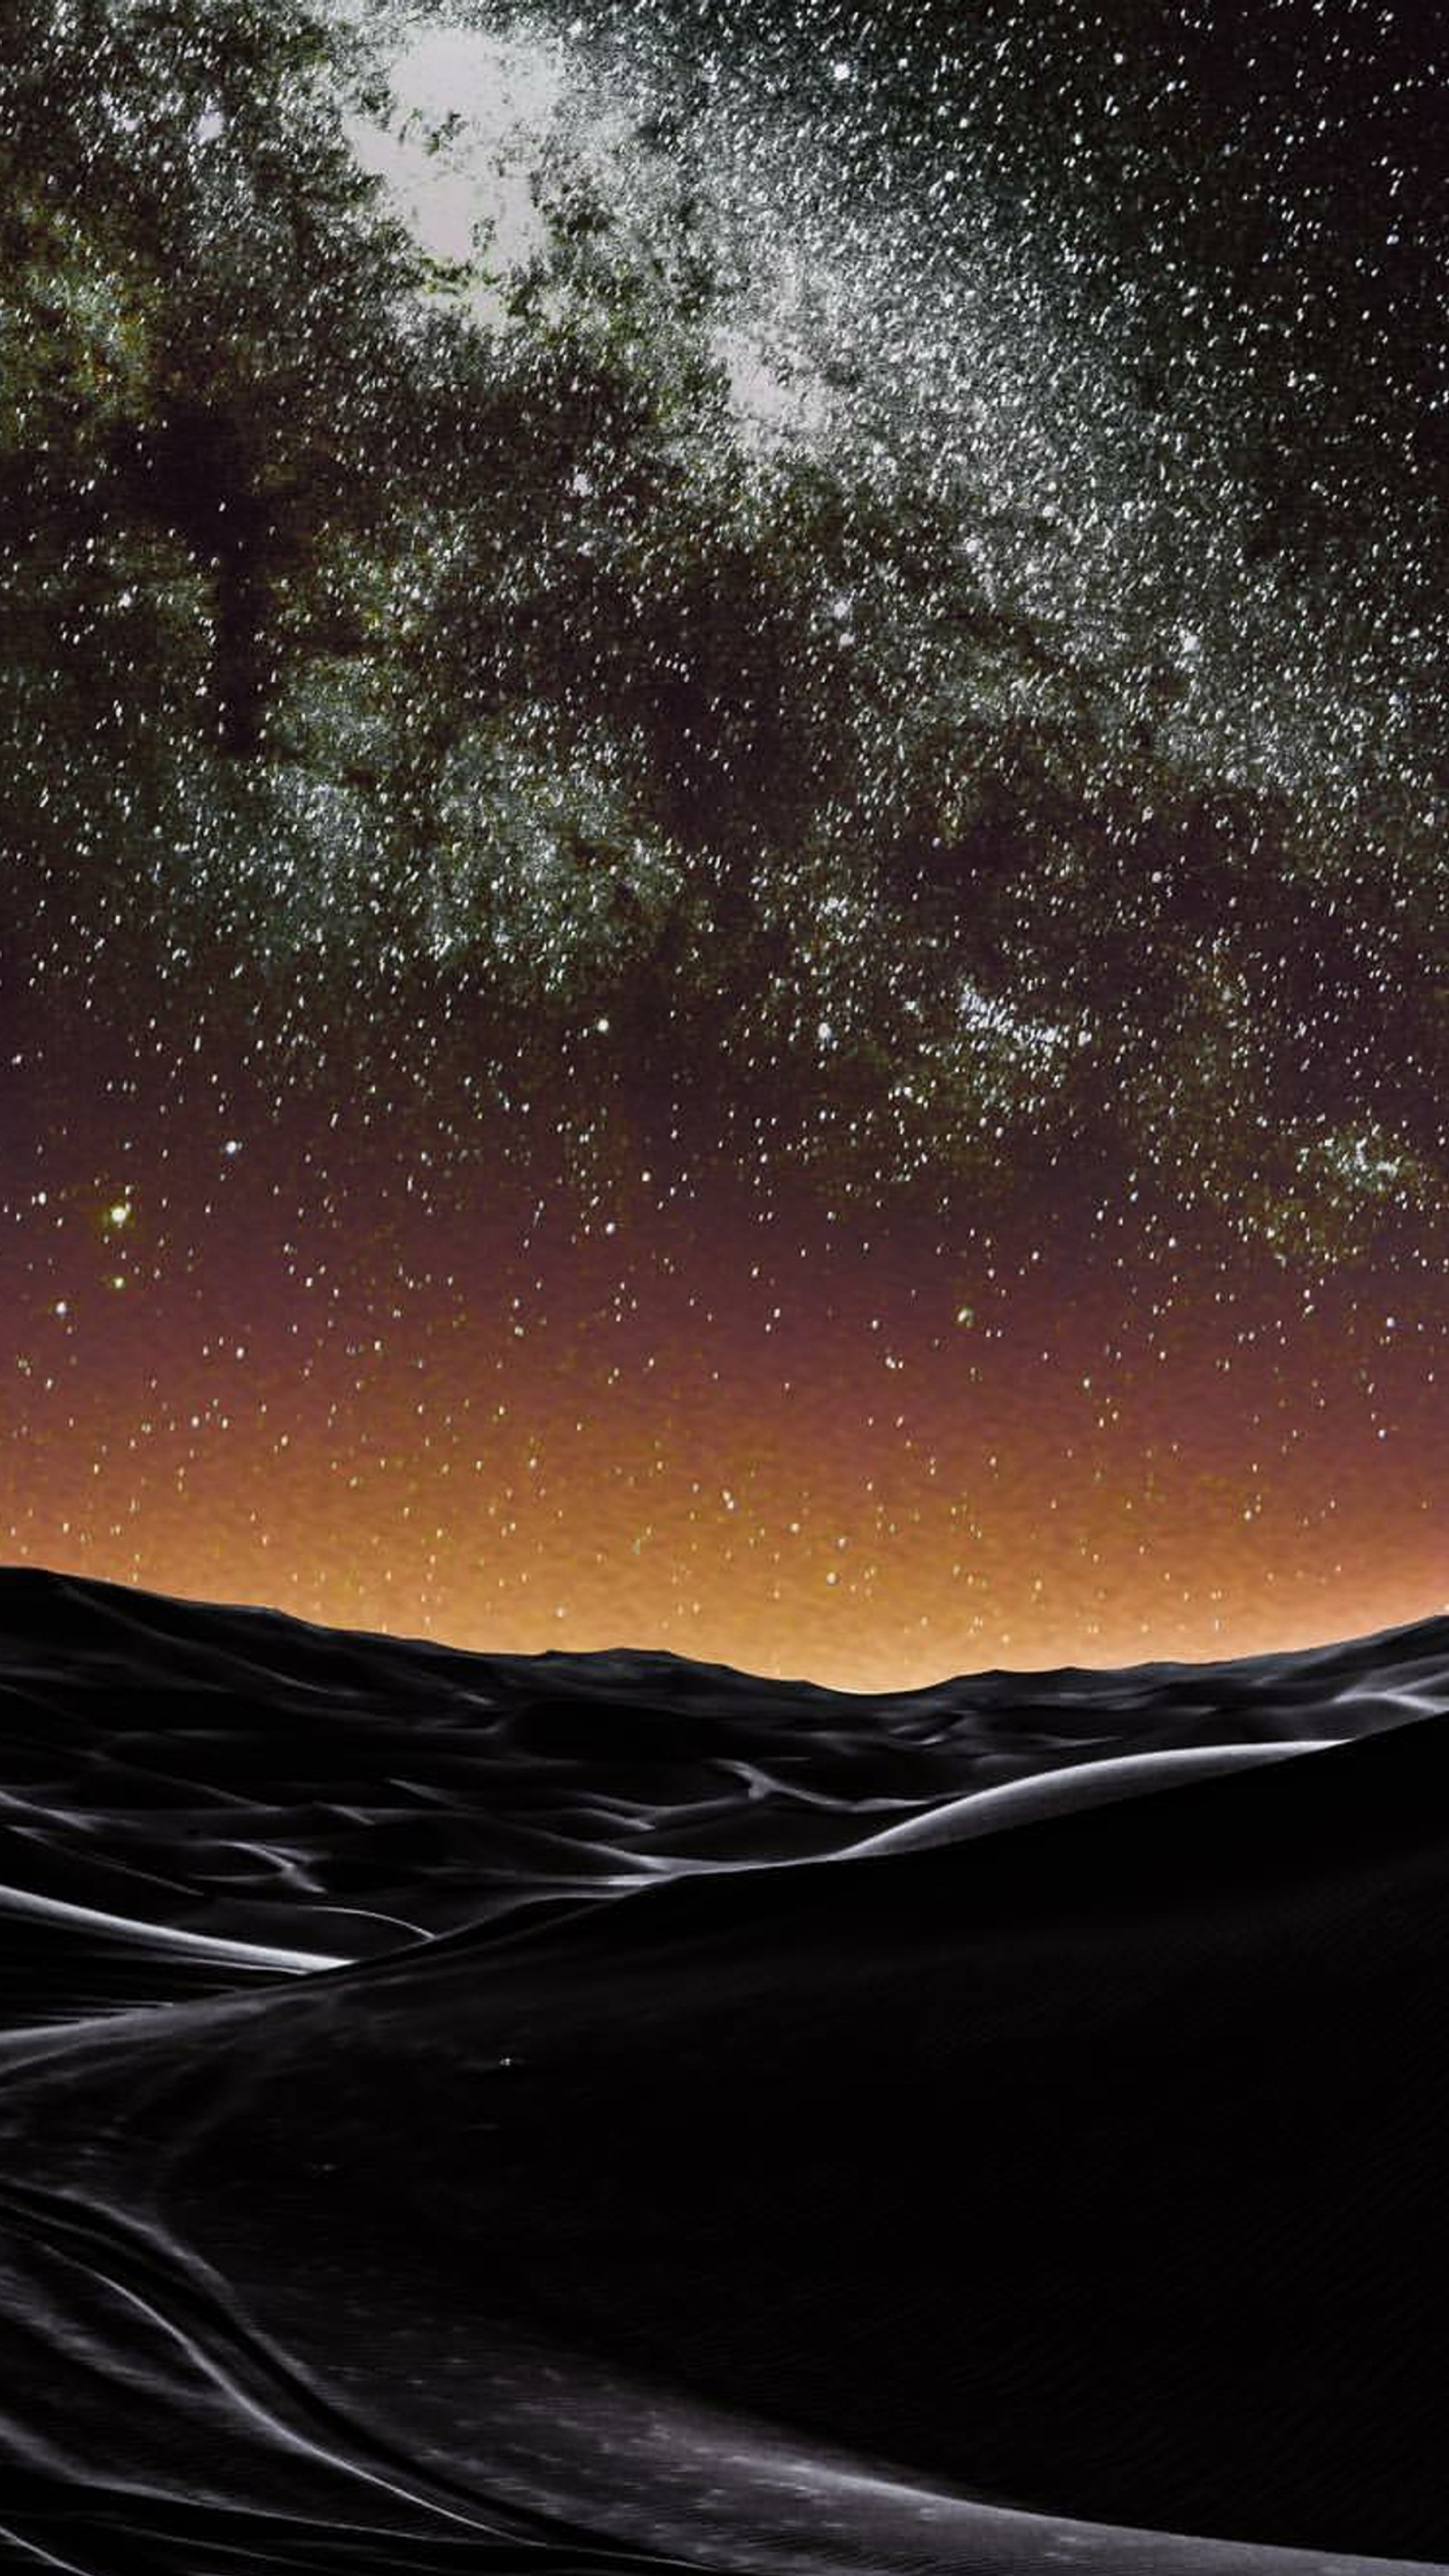
[[[1444,1607],[1418,15],[13,0],[10,1558],[847,1687]]]

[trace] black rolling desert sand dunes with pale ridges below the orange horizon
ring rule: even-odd
[[[1449,2566],[1449,1620],[0,1692],[0,2566]]]

